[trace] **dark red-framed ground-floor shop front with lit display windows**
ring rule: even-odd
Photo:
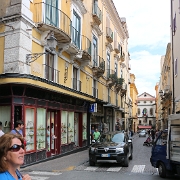
[[[90,121],[87,104],[82,99],[31,86],[0,86],[3,131],[14,129],[17,120],[24,122],[24,165],[86,147]]]

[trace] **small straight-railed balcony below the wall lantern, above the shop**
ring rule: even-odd
[[[47,64],[43,64],[43,67],[44,67],[44,78],[59,84],[60,71],[48,66]]]

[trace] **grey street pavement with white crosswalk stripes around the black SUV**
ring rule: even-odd
[[[143,146],[146,138],[133,137],[133,160],[129,167],[122,167],[116,163],[96,164],[89,166],[88,149],[82,152],[50,160],[44,163],[35,164],[21,169],[22,173],[28,173],[33,180],[56,180],[56,179],[161,179],[157,169],[150,164],[149,158],[151,147]],[[178,177],[168,177],[166,179],[178,179]]]

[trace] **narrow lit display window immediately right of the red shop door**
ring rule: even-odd
[[[61,144],[67,144],[67,111],[61,112]]]

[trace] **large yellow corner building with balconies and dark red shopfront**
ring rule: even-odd
[[[127,128],[129,34],[113,1],[1,5],[0,121],[5,132],[24,121],[25,164],[86,147],[91,126]]]

